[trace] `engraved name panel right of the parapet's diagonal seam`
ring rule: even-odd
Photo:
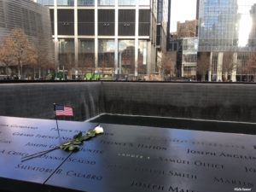
[[[108,136],[85,143],[102,154],[71,155],[96,164],[65,162],[47,184],[90,192],[255,190],[253,136],[102,126]]]

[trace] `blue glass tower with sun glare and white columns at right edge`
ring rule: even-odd
[[[209,81],[252,78],[255,5],[256,0],[200,1],[198,59]]]

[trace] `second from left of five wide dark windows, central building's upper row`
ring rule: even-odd
[[[94,9],[78,10],[78,34],[94,36]]]

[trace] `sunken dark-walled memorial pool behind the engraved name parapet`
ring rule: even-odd
[[[0,116],[256,134],[256,84],[62,82],[0,84]],[[60,118],[61,119],[61,118]]]

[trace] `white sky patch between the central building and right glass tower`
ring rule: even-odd
[[[171,32],[177,31],[177,21],[195,20],[196,0],[172,0]]]

